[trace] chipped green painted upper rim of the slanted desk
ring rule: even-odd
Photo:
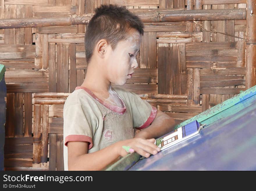
[[[241,91],[240,94],[236,95],[235,97],[232,97],[230,99],[227,99],[226,101],[223,101],[222,103],[215,105],[214,107],[186,120],[183,121],[182,123],[179,123],[178,125],[175,126],[175,129],[186,125],[192,121],[197,120],[198,122],[202,123],[203,121],[206,121],[206,119],[209,119],[210,117],[213,117],[214,115],[226,110],[227,108],[230,108],[231,106],[253,96],[256,94],[256,86],[253,86],[252,88]],[[215,120],[216,121],[216,120]],[[204,123],[208,125],[209,123]]]

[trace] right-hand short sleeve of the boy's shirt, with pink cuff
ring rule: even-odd
[[[134,128],[139,130],[147,128],[154,121],[157,115],[157,108],[141,99],[134,92],[130,92],[128,95],[131,96],[129,100]]]

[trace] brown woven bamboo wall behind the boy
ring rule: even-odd
[[[63,105],[86,75],[86,25],[109,3],[145,24],[139,68],[123,88],[176,123],[255,85],[246,0],[0,0],[6,170],[63,170]]]

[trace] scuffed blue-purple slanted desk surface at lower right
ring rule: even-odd
[[[199,135],[142,159],[129,170],[256,170],[256,95],[220,116]]]

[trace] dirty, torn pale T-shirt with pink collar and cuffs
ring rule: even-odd
[[[64,170],[67,166],[67,142],[88,142],[88,153],[101,150],[117,141],[134,138],[134,128],[146,128],[154,120],[157,109],[137,94],[112,88],[122,108],[109,105],[93,92],[78,86],[63,108]]]

